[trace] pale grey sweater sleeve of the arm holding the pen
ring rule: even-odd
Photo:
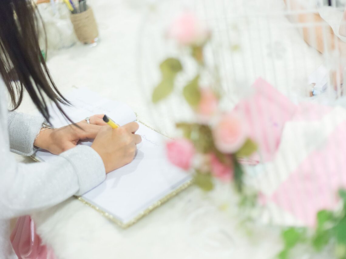
[[[0,162],[0,218],[51,207],[73,195],[82,195],[106,178],[99,154],[83,145],[49,163],[31,164],[17,163],[2,148]]]

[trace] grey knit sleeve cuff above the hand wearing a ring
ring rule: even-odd
[[[7,125],[11,152],[24,156],[32,155],[34,153],[34,141],[43,121],[42,116],[10,112]]]

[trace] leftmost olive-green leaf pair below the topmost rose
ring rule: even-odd
[[[158,103],[172,93],[176,75],[182,71],[182,69],[183,67],[180,61],[176,58],[167,58],[161,63],[160,70],[162,80],[154,89],[152,95],[153,103]]]

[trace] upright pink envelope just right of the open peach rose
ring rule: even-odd
[[[250,137],[258,144],[251,161],[267,162],[273,159],[280,144],[285,122],[297,106],[262,78],[253,84],[254,94],[242,100],[235,110],[242,115],[250,130]]]

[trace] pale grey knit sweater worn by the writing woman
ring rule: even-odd
[[[9,219],[30,214],[81,195],[106,177],[101,157],[88,146],[78,146],[49,163],[17,163],[11,152],[29,156],[43,122],[8,112],[7,89],[0,77],[0,258],[16,258],[9,241]]]

